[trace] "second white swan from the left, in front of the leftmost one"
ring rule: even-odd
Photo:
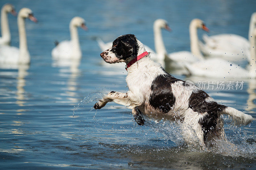
[[[30,55],[28,52],[28,44],[25,30],[25,19],[29,18],[31,21],[37,22],[33,13],[28,8],[22,8],[18,14],[18,30],[20,47],[14,46],[0,46],[0,64],[1,65],[17,65],[29,64]]]

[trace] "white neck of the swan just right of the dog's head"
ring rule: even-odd
[[[159,57],[163,57],[164,59],[167,52],[164,46],[161,28],[157,25],[154,25],[154,40],[158,59],[161,60]]]

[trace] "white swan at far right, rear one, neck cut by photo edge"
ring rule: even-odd
[[[256,26],[256,12],[251,16],[248,37]],[[203,36],[205,44],[200,42],[200,49],[205,56],[225,58],[229,61],[250,60],[250,42],[236,34]]]

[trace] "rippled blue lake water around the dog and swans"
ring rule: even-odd
[[[1,169],[256,168],[255,121],[245,127],[225,125],[235,147],[224,143],[200,151],[184,146],[175,124],[147,120],[138,126],[131,111],[115,103],[92,110],[92,100],[100,96],[94,92],[128,90],[125,69],[101,65],[96,37],[109,42],[132,33],[154,49],[152,25],[163,18],[173,30],[163,31],[168,52],[189,50],[188,24],[201,18],[209,35],[235,33],[247,38],[256,1],[1,0],[0,6],[5,3],[17,11],[30,8],[39,22],[26,22],[30,67],[0,69]],[[73,67],[58,67],[51,50],[55,40],[69,39],[74,16],[83,17],[89,28],[78,31],[83,57]],[[19,41],[16,19],[9,15],[12,46]],[[255,118],[255,89],[251,80],[239,90],[206,91],[219,103]]]

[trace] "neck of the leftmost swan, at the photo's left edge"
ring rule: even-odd
[[[8,13],[3,8],[1,10],[1,34],[2,39],[5,39],[5,42],[8,44],[11,41],[11,33],[8,23]]]

